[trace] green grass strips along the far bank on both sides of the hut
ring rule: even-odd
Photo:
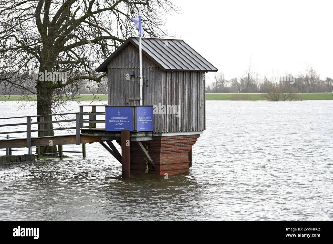
[[[333,100],[333,93],[298,93],[296,100]],[[20,95],[11,96],[0,96],[0,101],[19,101]],[[83,95],[80,101],[92,101],[94,99],[93,95]],[[99,95],[99,99],[102,101],[108,100],[108,95]],[[35,101],[36,96],[31,96],[26,99],[30,101]],[[257,100],[267,100],[264,94],[206,94],[206,100],[231,100],[231,101],[257,101]],[[95,100],[98,102],[98,100]]]

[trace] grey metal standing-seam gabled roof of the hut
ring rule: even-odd
[[[139,48],[139,38],[130,37],[97,69],[107,72],[108,63],[129,43]],[[217,71],[217,69],[183,40],[142,38],[142,53],[165,71]]]

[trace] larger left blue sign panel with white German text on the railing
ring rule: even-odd
[[[105,129],[133,131],[133,107],[105,107]]]

